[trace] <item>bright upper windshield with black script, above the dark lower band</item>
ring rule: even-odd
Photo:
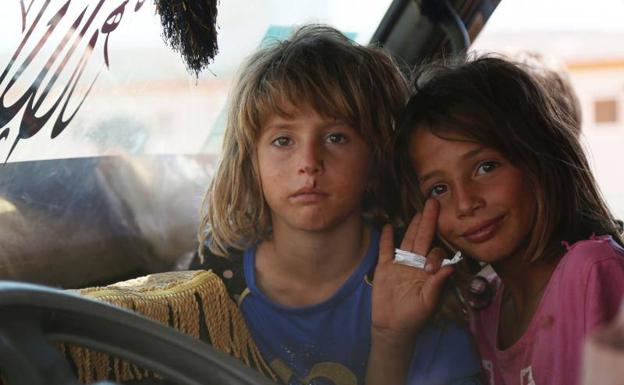
[[[152,1],[3,2],[0,158],[218,152],[244,57],[310,22],[367,43],[389,3],[223,1],[219,53],[196,78],[163,41]]]

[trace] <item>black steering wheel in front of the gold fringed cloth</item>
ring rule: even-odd
[[[179,385],[272,384],[210,345],[128,310],[45,286],[0,281],[5,385],[79,385],[56,341],[122,358]],[[104,384],[112,383],[99,383]]]

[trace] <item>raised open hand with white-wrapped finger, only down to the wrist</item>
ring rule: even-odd
[[[383,229],[373,283],[372,332],[386,341],[413,339],[435,310],[444,281],[453,272],[451,266],[439,269],[446,253],[431,248],[438,212],[438,202],[428,200],[401,242],[401,249],[427,257],[426,270],[393,263],[392,226]]]

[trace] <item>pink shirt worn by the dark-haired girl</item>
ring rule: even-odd
[[[580,380],[584,337],[613,319],[624,294],[624,250],[610,236],[568,247],[522,337],[505,350],[497,334],[501,281],[492,304],[471,327],[489,385],[574,385]]]

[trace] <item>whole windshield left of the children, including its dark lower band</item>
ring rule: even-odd
[[[221,2],[198,76],[153,1],[3,2],[0,276],[81,287],[176,268],[197,248],[242,60],[304,23],[367,43],[390,2]]]

